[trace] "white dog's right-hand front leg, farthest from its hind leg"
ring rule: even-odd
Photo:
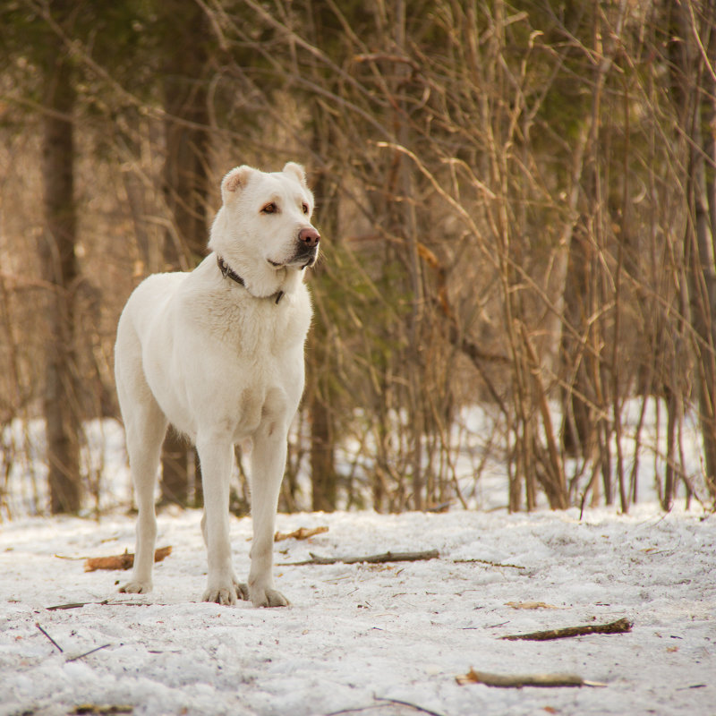
[[[286,468],[286,432],[260,430],[251,451],[251,570],[249,599],[254,607],[286,607],[274,586],[273,548],[278,492]]]

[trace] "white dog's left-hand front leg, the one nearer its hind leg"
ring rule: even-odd
[[[229,540],[229,478],[233,446],[226,439],[200,438],[196,447],[204,487],[201,527],[209,559],[209,578],[203,601],[235,604],[237,593]]]

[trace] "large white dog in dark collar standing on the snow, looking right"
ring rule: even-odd
[[[141,283],[117,327],[115,376],[139,507],[132,578],[149,592],[157,521],[154,494],[169,423],[199,452],[201,530],[209,557],[204,601],[285,606],[272,575],[286,435],[303,392],[311,303],[303,268],[318,258],[313,196],[293,162],[267,174],[239,166],[221,183],[212,253],[191,273]],[[239,584],[229,543],[234,443],[251,444],[253,541],[249,583]]]

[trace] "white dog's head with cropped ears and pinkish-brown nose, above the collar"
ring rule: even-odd
[[[221,197],[209,247],[236,270],[260,270],[257,262],[273,271],[300,269],[318,259],[320,234],[311,225],[313,194],[303,166],[288,162],[272,173],[237,166],[224,177]]]

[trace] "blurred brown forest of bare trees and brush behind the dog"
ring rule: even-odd
[[[283,509],[467,506],[465,449],[511,510],[626,512],[647,459],[713,505],[714,0],[4,0],[0,57],[4,516],[36,419],[47,508],[99,504],[127,296],[205,255],[226,171],[289,159],[325,249]],[[163,499],[199,478],[170,435]]]

